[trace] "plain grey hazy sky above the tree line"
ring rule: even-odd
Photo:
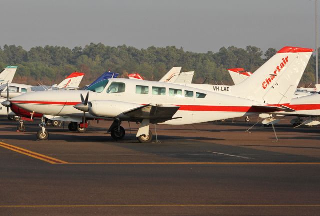
[[[314,0],[0,0],[0,8],[1,47],[315,47]]]

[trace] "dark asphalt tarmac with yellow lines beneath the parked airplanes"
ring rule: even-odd
[[[137,126],[114,142],[110,122],[85,134],[0,119],[0,216],[320,215],[320,127],[210,122]],[[129,132],[131,128],[131,134]],[[151,126],[155,135],[154,126]]]

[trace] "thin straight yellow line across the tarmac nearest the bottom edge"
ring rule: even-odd
[[[320,207],[320,204],[124,204],[124,205],[12,205],[0,208],[43,208],[43,207]]]

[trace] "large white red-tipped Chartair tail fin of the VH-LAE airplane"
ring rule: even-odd
[[[283,47],[246,80],[234,86],[237,96],[269,104],[289,103],[312,51]]]

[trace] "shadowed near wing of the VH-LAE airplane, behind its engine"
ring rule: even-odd
[[[150,103],[128,111],[123,114],[135,119],[149,119],[152,124],[167,121],[179,109],[179,106]]]

